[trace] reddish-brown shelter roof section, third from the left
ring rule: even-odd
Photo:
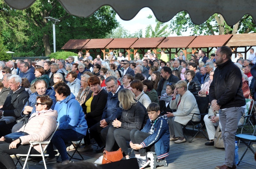
[[[115,38],[113,39],[106,48],[113,49],[113,48],[119,48],[119,49],[127,49],[130,48],[130,46],[136,42],[139,38]]]

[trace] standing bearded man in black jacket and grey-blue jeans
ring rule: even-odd
[[[219,110],[225,147],[225,162],[215,169],[237,168],[234,161],[235,134],[244,112],[245,98],[242,91],[242,74],[231,61],[231,56],[232,51],[228,46],[217,49],[214,57],[217,68],[209,90],[213,111]]]

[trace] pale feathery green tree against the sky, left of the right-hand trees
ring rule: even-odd
[[[152,15],[147,17],[148,19],[152,18]],[[165,23],[159,22],[157,19],[156,27],[153,29],[152,25],[148,25],[145,31],[145,38],[154,38],[154,37],[167,37],[170,35],[168,31],[168,25]]]

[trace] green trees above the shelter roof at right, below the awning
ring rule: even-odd
[[[238,23],[229,26],[222,15],[214,14],[201,25],[195,25],[189,15],[183,11],[171,20],[170,30],[178,36],[187,31],[190,31],[190,35],[242,34],[256,32],[256,24],[250,15],[244,15]]]

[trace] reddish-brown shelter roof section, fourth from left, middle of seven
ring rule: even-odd
[[[139,38],[135,43],[133,43],[131,48],[157,48],[158,45],[165,39],[165,37],[159,38]]]

